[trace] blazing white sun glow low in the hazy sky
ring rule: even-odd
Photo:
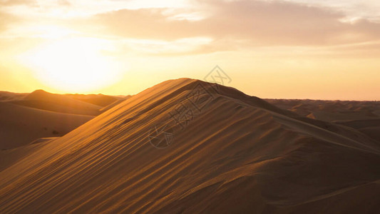
[[[46,85],[86,92],[118,80],[117,64],[101,54],[102,45],[96,39],[66,39],[40,46],[21,58]]]

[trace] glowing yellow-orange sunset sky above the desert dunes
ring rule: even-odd
[[[0,0],[0,91],[135,94],[219,66],[260,98],[380,100],[380,1]]]

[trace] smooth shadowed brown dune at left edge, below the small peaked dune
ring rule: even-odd
[[[0,149],[24,146],[37,138],[63,136],[92,118],[0,102]]]

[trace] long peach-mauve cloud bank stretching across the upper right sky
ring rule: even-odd
[[[245,40],[252,46],[323,46],[380,38],[380,24],[327,8],[283,1],[197,1],[209,14],[192,21],[173,19],[165,9],[123,9],[98,14],[102,34],[173,41],[190,37]],[[179,11],[182,12],[182,11]],[[192,12],[192,11],[190,11]]]

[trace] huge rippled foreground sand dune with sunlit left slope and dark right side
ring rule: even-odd
[[[1,170],[0,213],[374,212],[379,165],[379,142],[354,128],[181,78]]]

